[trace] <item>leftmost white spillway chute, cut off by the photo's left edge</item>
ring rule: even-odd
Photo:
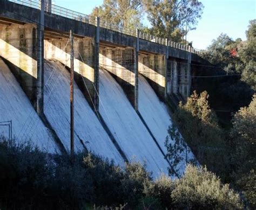
[[[0,121],[12,120],[15,140],[19,143],[30,142],[46,152],[58,151],[49,130],[2,59],[0,84]],[[8,129],[0,127],[0,135],[8,136]]]

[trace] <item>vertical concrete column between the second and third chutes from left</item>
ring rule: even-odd
[[[96,17],[95,46],[94,46],[94,78],[95,78],[95,95],[94,104],[96,112],[99,111],[99,17]]]

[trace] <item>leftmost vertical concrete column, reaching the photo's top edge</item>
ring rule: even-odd
[[[44,0],[41,0],[41,11],[37,41],[37,79],[36,79],[36,111],[38,115],[44,113]]]

